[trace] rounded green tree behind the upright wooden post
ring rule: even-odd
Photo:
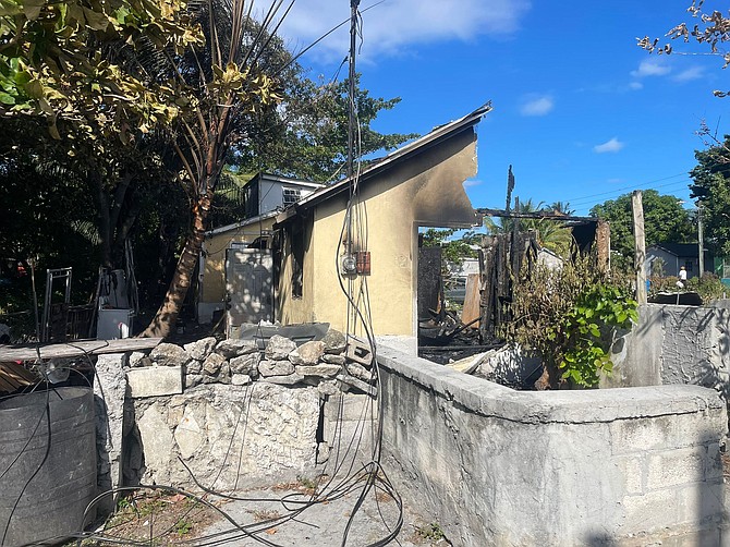
[[[656,190],[645,190],[644,234],[647,245],[660,243],[689,243],[696,241],[697,230],[690,211],[672,195],[661,195]],[[594,217],[608,220],[611,228],[611,252],[625,259],[634,255],[633,212],[631,194],[623,194],[591,209]]]

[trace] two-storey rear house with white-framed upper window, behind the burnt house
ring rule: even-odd
[[[229,250],[270,247],[276,216],[323,184],[259,173],[244,187],[246,218],[206,232],[198,266],[196,314],[198,323],[210,323],[227,301],[226,256]]]

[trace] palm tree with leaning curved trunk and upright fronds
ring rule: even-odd
[[[198,7],[205,47],[192,47],[180,58],[159,59],[169,73],[193,94],[190,117],[179,117],[170,135],[180,162],[179,180],[187,194],[191,226],[162,304],[145,336],[167,336],[174,325],[197,266],[208,215],[226,159],[250,130],[252,113],[279,100],[275,81],[261,72],[259,58],[270,40],[267,26],[280,3],[272,3],[252,37],[253,0],[216,0]]]

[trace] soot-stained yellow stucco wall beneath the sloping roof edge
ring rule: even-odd
[[[352,289],[357,300],[366,282],[375,335],[416,335],[418,226],[472,226],[474,209],[462,183],[475,174],[475,135],[470,129],[363,184],[353,210],[353,250],[370,252],[372,274],[353,278]],[[356,318],[351,316],[348,323],[348,301],[336,267],[345,199],[330,198],[315,208],[303,297],[279,302],[282,323],[329,321],[364,335]],[[287,287],[291,290],[290,263],[291,253],[284,251],[282,293]]]

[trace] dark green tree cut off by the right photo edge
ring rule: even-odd
[[[691,197],[702,215],[705,244],[716,254],[730,255],[730,163],[728,145],[711,146],[695,153],[697,166],[690,177]]]

